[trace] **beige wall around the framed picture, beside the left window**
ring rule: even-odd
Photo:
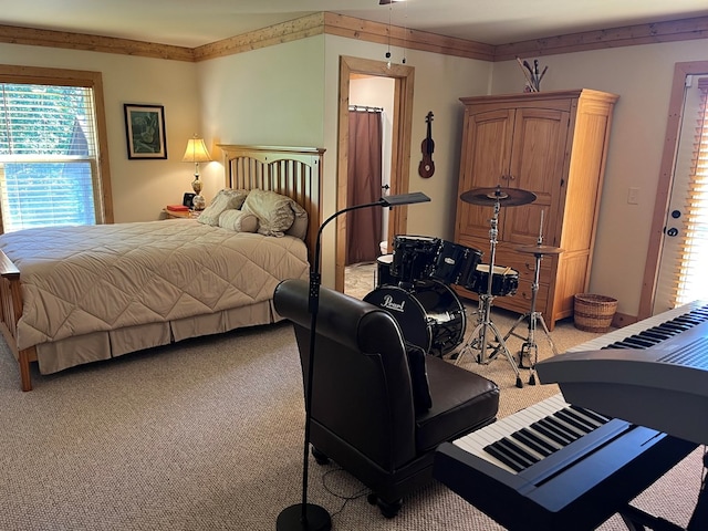
[[[159,219],[167,204],[190,191],[194,166],[183,163],[187,139],[199,133],[196,66],[180,61],[0,44],[0,63],[88,70],[103,74],[115,221]],[[165,106],[166,160],[129,160],[124,103]]]

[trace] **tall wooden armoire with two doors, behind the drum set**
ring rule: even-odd
[[[459,196],[478,188],[517,188],[535,194],[527,205],[501,205],[494,266],[519,273],[514,295],[493,306],[531,310],[534,256],[518,251],[543,244],[562,248],[541,260],[538,312],[549,329],[573,314],[575,293],[587,291],[612,112],[617,95],[574,91],[462,97],[465,122],[455,241],[482,251],[489,262],[493,207]],[[456,287],[458,293],[475,293]]]

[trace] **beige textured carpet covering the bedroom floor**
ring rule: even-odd
[[[559,348],[579,339],[566,341],[564,330],[553,332]],[[498,382],[501,415],[555,392],[516,388],[506,361],[468,368]],[[19,391],[17,364],[0,343],[2,530],[266,531],[300,501],[303,394],[287,323],[33,378],[34,391]],[[685,525],[700,457],[637,503]],[[310,500],[333,514],[335,530],[500,529],[439,483],[387,520],[365,496],[345,501],[365,490],[335,465],[312,461],[310,470]],[[601,529],[624,527],[615,517]]]

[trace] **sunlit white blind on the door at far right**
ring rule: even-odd
[[[700,105],[684,208],[681,253],[675,277],[675,304],[708,299],[708,79],[698,80]]]

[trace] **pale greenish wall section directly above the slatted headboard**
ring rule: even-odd
[[[323,146],[323,45],[314,37],[197,64],[205,139],[218,160],[204,174],[207,200],[223,188],[217,144]]]

